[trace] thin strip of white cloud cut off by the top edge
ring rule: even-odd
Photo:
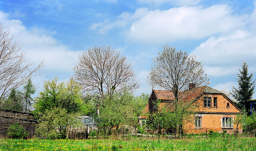
[[[175,6],[194,6],[201,2],[201,0],[137,0],[138,3],[146,3],[154,6],[160,6],[165,2],[172,3]]]

